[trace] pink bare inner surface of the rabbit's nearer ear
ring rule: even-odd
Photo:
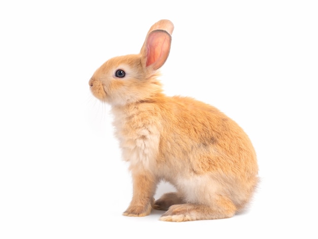
[[[166,62],[169,55],[171,37],[165,31],[154,31],[147,39],[146,66],[153,66],[156,70]]]

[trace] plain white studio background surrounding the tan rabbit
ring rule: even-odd
[[[317,12],[316,1],[2,1],[0,238],[317,238]],[[88,80],[138,53],[163,18],[175,25],[165,93],[216,106],[255,145],[262,182],[231,219],[121,216],[131,176]]]

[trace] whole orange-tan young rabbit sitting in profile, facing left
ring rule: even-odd
[[[157,79],[170,52],[174,25],[154,23],[139,54],[116,56],[89,80],[92,95],[110,104],[114,134],[129,162],[133,197],[124,216],[166,211],[161,221],[224,219],[255,192],[258,162],[238,124],[213,106],[166,96]],[[154,200],[158,183],[176,192]]]

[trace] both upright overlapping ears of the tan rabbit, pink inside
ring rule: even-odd
[[[160,20],[150,27],[140,50],[144,67],[157,70],[164,65],[170,52],[173,29],[173,23],[169,20]]]

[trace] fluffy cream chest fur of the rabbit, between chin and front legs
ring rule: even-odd
[[[155,115],[143,107],[114,107],[115,136],[119,139],[123,160],[131,168],[151,170],[156,163],[160,133]]]

